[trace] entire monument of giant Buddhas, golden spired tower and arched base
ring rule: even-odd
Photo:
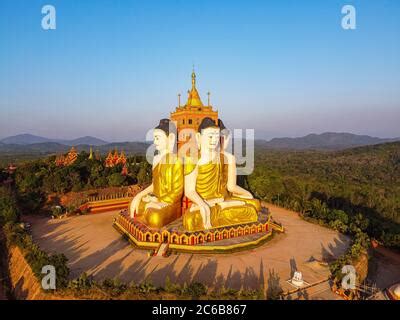
[[[222,121],[218,121],[218,112],[211,106],[209,93],[207,104],[201,101],[194,71],[191,77],[186,103],[181,105],[178,95],[178,106],[170,119],[161,119],[155,127],[164,134],[153,135],[161,157],[152,163],[151,185],[135,194],[129,207],[113,222],[136,247],[154,250],[152,255],[160,256],[168,250],[230,252],[262,244],[273,230],[283,232],[281,225],[271,221],[270,211],[261,206],[260,200],[236,184],[236,172],[232,170],[235,162],[225,161],[234,155],[221,155],[226,144],[217,143],[226,134],[220,131]],[[178,150],[173,150],[176,141],[172,123],[178,133]],[[202,131],[198,132],[200,126]],[[196,139],[198,135],[200,139]],[[192,150],[203,163],[196,163]],[[115,155],[110,152],[107,159],[111,162]],[[206,206],[209,210],[204,213]]]

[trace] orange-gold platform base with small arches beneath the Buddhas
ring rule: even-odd
[[[198,232],[186,232],[179,224],[178,220],[163,229],[151,230],[131,219],[126,211],[114,220],[114,227],[135,247],[152,250],[158,256],[171,252],[227,253],[252,249],[265,243],[274,230],[283,232],[266,209],[259,213],[257,222],[249,224]]]

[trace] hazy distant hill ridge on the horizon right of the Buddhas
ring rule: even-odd
[[[384,139],[352,133],[325,132],[322,134],[312,133],[299,138],[274,138],[270,141],[257,140],[255,143],[256,147],[270,149],[340,150],[385,142],[393,142],[397,140],[400,140],[400,138]]]

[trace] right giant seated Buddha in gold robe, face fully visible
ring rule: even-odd
[[[229,170],[229,159],[220,150],[220,127],[211,118],[201,122],[196,139],[200,156],[195,163],[185,158],[185,196],[193,204],[183,216],[183,226],[188,231],[251,223],[258,219],[258,207],[247,203],[249,197],[233,185],[236,174]],[[231,191],[229,190],[229,187]],[[239,191],[242,197],[231,195]],[[250,199],[249,199],[250,200]]]

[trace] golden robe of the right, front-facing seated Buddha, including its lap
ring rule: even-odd
[[[218,163],[198,165],[196,191],[204,200],[223,198],[224,200],[240,200],[243,205],[222,208],[219,204],[211,207],[211,225],[213,228],[251,223],[258,219],[259,201],[256,199],[242,199],[229,195],[227,185],[228,164],[223,160]],[[190,160],[185,163],[185,175],[195,169]],[[258,201],[258,205],[257,205]],[[189,231],[204,230],[200,210],[186,210],[183,216],[183,226]]]

